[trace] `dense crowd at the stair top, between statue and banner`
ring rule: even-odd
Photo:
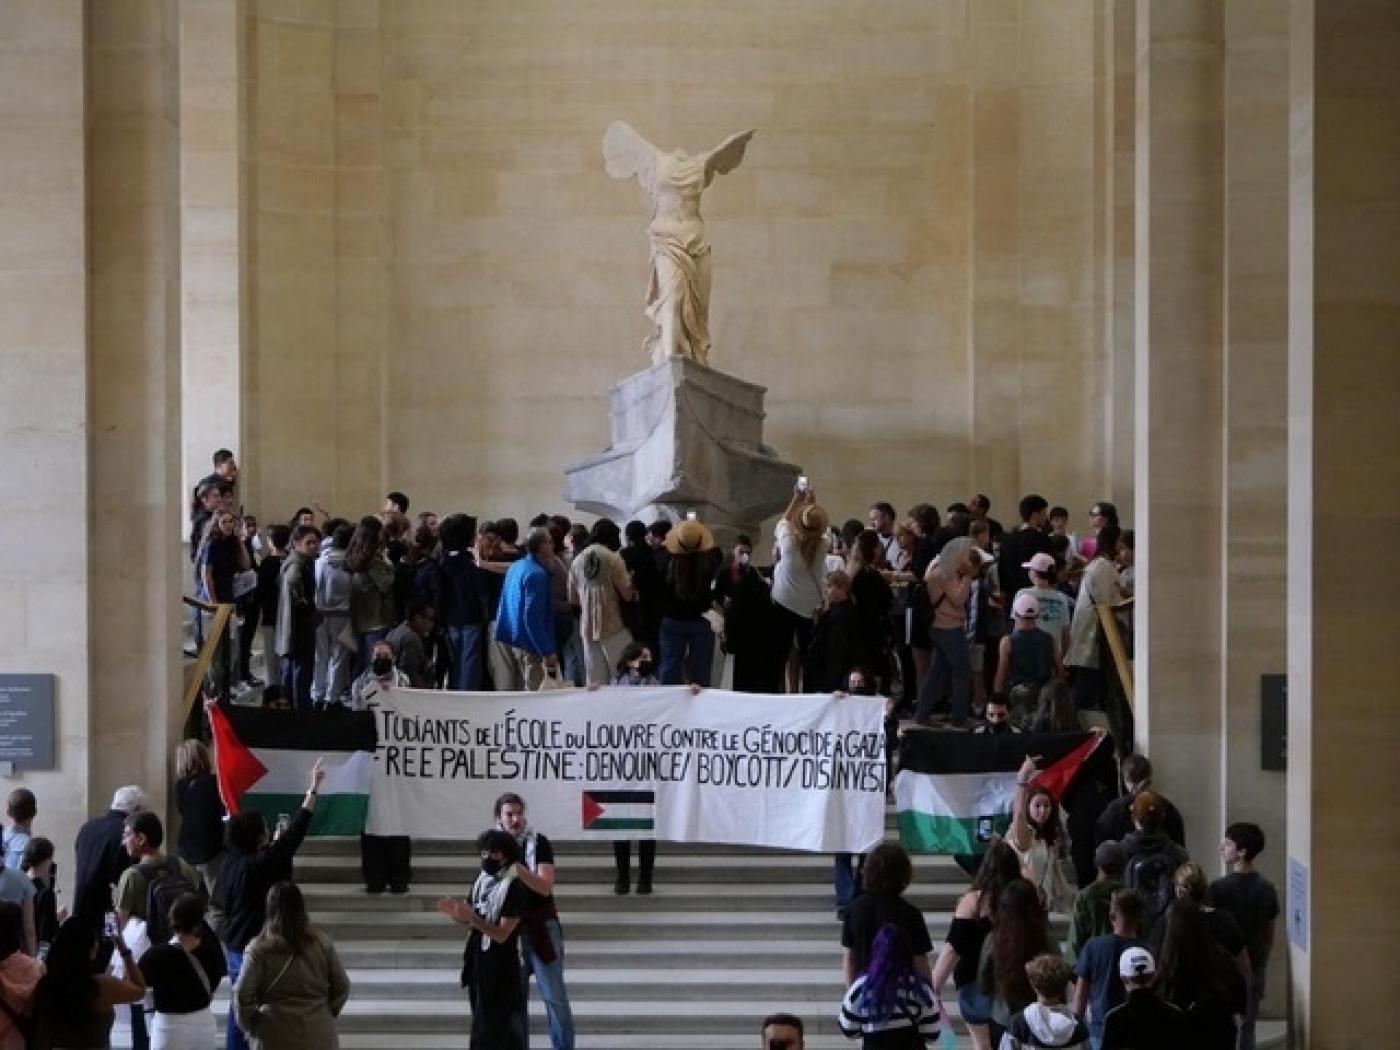
[[[631,644],[662,685],[707,687],[718,645],[738,692],[832,692],[860,669],[924,725],[970,727],[995,693],[1029,728],[1057,683],[1077,710],[1103,706],[1096,606],[1133,594],[1133,532],[1106,501],[1082,535],[1037,494],[1012,529],[981,494],[903,518],[879,501],[833,528],[804,479],[760,567],[749,536],[721,550],[693,515],[539,514],[522,535],[512,518],[410,517],[399,491],[357,521],[301,507],[260,528],[237,479],[220,449],[193,493],[196,591],[238,610],[232,690],[262,685],[260,636],[272,697],[297,708],[363,707],[393,672],[465,690],[602,685]]]

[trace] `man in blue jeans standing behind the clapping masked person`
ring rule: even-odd
[[[529,1001],[529,974],[535,974],[539,997],[549,1019],[549,1042],[554,1050],[574,1050],[574,1012],[564,987],[564,931],[554,906],[554,847],[529,826],[525,799],[508,791],[496,799],[496,826],[510,834],[521,848],[515,878],[531,890],[521,909],[522,1001]],[[528,1015],[517,1015],[522,1044],[529,1042]]]

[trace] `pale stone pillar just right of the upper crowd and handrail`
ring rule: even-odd
[[[1138,746],[1210,857],[1221,799],[1221,0],[1138,4]]]

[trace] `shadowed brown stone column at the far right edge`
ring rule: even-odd
[[[1350,1050],[1400,1029],[1400,7],[1291,13],[1284,914],[1295,1046]]]

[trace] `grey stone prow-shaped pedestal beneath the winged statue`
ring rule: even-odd
[[[613,386],[612,445],[564,469],[564,498],[620,524],[696,511],[715,539],[757,538],[799,468],[763,444],[763,386],[673,357]]]

